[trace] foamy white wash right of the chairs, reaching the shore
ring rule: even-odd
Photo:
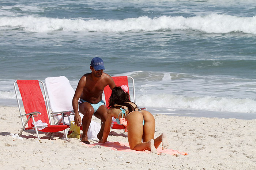
[[[115,76],[135,78],[138,106],[158,112],[165,108],[161,112],[192,109],[256,113],[255,81],[251,79],[152,71]]]

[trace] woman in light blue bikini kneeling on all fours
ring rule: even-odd
[[[162,149],[169,146],[165,133],[154,139],[154,116],[146,110],[139,111],[138,106],[130,101],[126,85],[115,87],[112,90],[103,137],[99,143],[107,142],[112,117],[116,118],[118,124],[124,124],[127,127],[128,142],[131,149],[137,151],[150,150],[151,153],[157,153],[157,148],[161,143]]]

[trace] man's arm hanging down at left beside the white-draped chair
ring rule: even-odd
[[[82,76],[82,78],[79,80],[78,82],[78,86],[76,87],[76,91],[75,91],[75,95],[73,97],[73,100],[72,100],[72,106],[73,106],[73,109],[74,109],[74,112],[75,112],[75,124],[77,126],[81,126],[81,122],[82,122],[82,119],[79,115],[79,112],[78,112],[78,100],[83,92],[83,88],[85,86],[85,83],[86,83],[86,77],[85,76]]]

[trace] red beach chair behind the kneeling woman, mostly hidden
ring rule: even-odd
[[[118,77],[112,77],[116,86],[122,86],[122,85],[127,85],[128,86],[128,78],[132,80],[132,90],[133,90],[133,102],[135,103],[135,87],[134,87],[134,79],[129,76],[118,76]],[[128,86],[129,87],[129,86]],[[106,86],[104,88],[104,95],[105,95],[105,101],[106,101],[106,106],[109,106],[109,98],[111,96],[112,90],[109,88],[109,86]],[[129,93],[129,90],[128,90]],[[112,122],[111,124],[112,129],[125,129],[124,125],[117,124],[116,122]]]

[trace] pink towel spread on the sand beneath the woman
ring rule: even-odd
[[[85,146],[89,146],[89,147],[93,147],[95,145],[99,145],[99,146],[105,146],[108,147],[109,149],[112,150],[116,150],[116,151],[124,151],[124,152],[135,152],[135,153],[150,153],[150,151],[145,150],[145,151],[136,151],[136,150],[132,150],[129,147],[128,143],[120,143],[120,142],[106,142],[106,143],[92,143],[92,144],[85,144],[83,142],[81,142],[83,145]],[[170,155],[175,155],[175,154],[181,154],[181,155],[188,155],[188,153],[186,152],[180,152],[177,150],[172,150],[172,149],[165,149],[162,150],[162,147],[158,147],[157,149],[157,154],[161,154],[161,153],[166,153],[166,154],[170,154]]]

